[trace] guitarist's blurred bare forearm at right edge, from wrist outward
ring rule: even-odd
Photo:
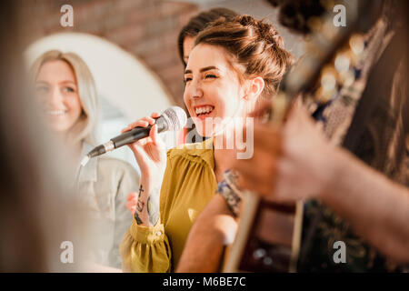
[[[409,262],[409,190],[344,150],[328,163],[334,175],[321,196],[324,204],[384,255]]]

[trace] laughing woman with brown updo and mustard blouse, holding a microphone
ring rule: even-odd
[[[166,154],[154,125],[148,138],[130,146],[142,176],[139,196],[129,197],[135,219],[121,244],[124,271],[175,270],[195,218],[223,180],[224,156],[238,152],[234,133],[243,128],[232,120],[271,98],[290,63],[274,27],[248,15],[222,17],[196,36],[185,68],[184,99],[198,133],[210,138]],[[153,125],[157,116],[125,131]]]

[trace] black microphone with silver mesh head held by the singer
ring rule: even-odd
[[[167,130],[180,130],[185,126],[186,121],[187,116],[185,110],[178,106],[172,106],[167,108],[162,115],[156,118],[155,124],[157,125],[157,132],[161,133]],[[81,161],[81,166],[85,166],[91,157],[103,155],[115,148],[134,143],[139,139],[149,136],[152,126],[153,125],[148,125],[147,127],[135,127],[122,135],[111,138],[109,142],[106,142],[103,145],[96,146],[84,157]]]

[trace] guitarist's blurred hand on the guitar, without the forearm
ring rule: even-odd
[[[324,191],[333,176],[328,160],[334,151],[319,125],[297,103],[281,128],[254,124],[252,158],[225,162],[238,171],[240,187],[274,201],[294,201]]]

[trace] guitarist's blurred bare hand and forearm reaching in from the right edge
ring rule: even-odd
[[[302,105],[280,129],[254,125],[254,156],[229,166],[242,189],[270,202],[319,199],[385,256],[409,262],[409,189],[331,145]]]

